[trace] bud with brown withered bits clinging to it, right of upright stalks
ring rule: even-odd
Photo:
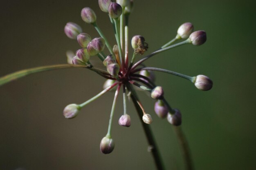
[[[145,38],[143,36],[133,36],[132,48],[135,50],[136,54],[142,55],[148,49],[148,44],[145,42]]]

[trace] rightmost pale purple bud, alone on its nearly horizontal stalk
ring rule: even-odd
[[[195,87],[203,90],[203,91],[207,91],[210,90],[211,87],[213,86],[213,81],[211,81],[211,79],[207,76],[204,75],[198,75],[195,78]]]

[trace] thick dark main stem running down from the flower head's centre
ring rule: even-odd
[[[148,148],[150,148],[149,151],[153,155],[153,159],[155,161],[155,166],[157,167],[157,170],[164,170],[164,165],[162,164],[162,158],[161,158],[159,150],[157,148],[150,125],[144,123],[143,120],[141,119],[141,117],[143,116],[143,112],[142,112],[141,108],[139,107],[139,104],[137,103],[137,101],[138,101],[137,94],[136,94],[135,90],[130,85],[127,85],[127,88],[131,92],[132,102],[135,105],[135,108],[136,108],[138,116],[139,116],[139,120],[141,121],[143,130],[146,134],[146,137],[148,140]]]

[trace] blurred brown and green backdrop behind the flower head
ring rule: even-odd
[[[79,49],[63,32],[76,22],[99,37],[80,17],[83,7],[97,14],[98,25],[111,44],[115,38],[106,13],[97,0],[4,1],[0,6],[0,76],[29,67],[66,63],[66,50]],[[197,170],[255,170],[256,156],[256,30],[252,0],[135,0],[130,16],[130,38],[143,35],[146,54],[171,40],[184,22],[207,32],[199,47],[184,45],[146,62],[190,76],[204,74],[214,84],[199,91],[189,81],[157,75],[166,99],[182,112],[182,128]],[[140,58],[140,57],[138,57]],[[95,65],[101,63],[93,59]],[[115,150],[99,151],[105,136],[114,94],[108,93],[67,120],[63,108],[82,103],[101,91],[104,79],[86,69],[63,69],[27,76],[0,87],[0,169],[105,170],[155,169],[132,103],[130,128],[117,123],[123,113],[119,96],[113,123]],[[184,169],[172,126],[153,111],[154,101],[140,92],[166,169]]]

